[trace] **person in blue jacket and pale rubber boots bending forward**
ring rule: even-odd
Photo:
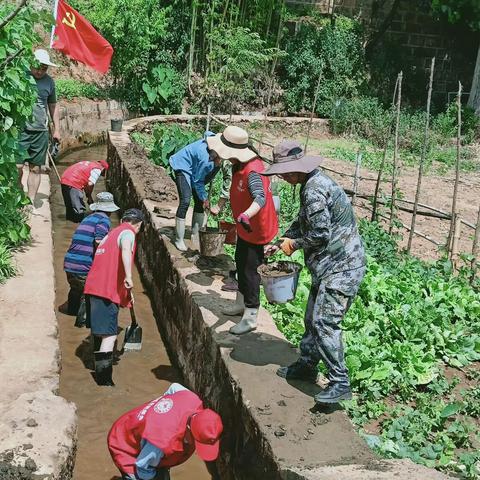
[[[203,226],[204,211],[218,215],[228,200],[231,170],[222,167],[222,160],[209,149],[206,139],[213,132],[205,132],[204,138],[190,143],[169,158],[172,176],[177,185],[179,205],[175,215],[175,246],[184,252],[185,217],[193,196],[192,243],[198,243],[198,231]],[[222,167],[223,185],[218,205],[211,206],[205,186],[212,182]]]

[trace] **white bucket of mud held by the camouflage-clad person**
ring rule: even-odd
[[[297,262],[274,262],[258,267],[269,303],[287,303],[295,298],[302,265]]]

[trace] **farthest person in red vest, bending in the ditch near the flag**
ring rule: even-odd
[[[106,170],[108,170],[108,163],[100,160],[99,162],[78,162],[63,172],[61,184],[67,220],[74,223],[83,220],[87,211],[83,201],[83,192],[87,196],[88,203],[93,203],[93,187],[100,175],[105,176]]]

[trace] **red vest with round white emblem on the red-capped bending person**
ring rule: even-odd
[[[181,390],[164,395],[122,415],[108,434],[108,449],[115,465],[124,473],[135,473],[142,438],[162,450],[159,467],[186,462],[195,451],[193,438],[184,445],[188,418],[203,410],[195,393]]]

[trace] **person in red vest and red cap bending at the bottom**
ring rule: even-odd
[[[108,434],[110,455],[124,480],[169,480],[169,469],[193,452],[220,480],[218,457],[222,419],[178,383],[159,398],[122,415]]]

